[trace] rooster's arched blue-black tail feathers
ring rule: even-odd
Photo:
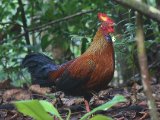
[[[40,53],[27,55],[22,61],[22,67],[28,68],[33,84],[40,84],[41,86],[52,86],[54,84],[54,81],[49,80],[48,73],[57,71],[58,65],[55,65],[53,60],[46,55]]]

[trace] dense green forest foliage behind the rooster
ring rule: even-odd
[[[112,0],[22,0],[23,5],[19,1],[0,1],[0,80],[11,79],[16,86],[30,83],[28,73],[20,67],[28,51],[44,52],[57,64],[81,55],[99,26],[98,12],[107,13],[116,23],[114,83],[128,84],[131,79],[140,79],[133,10]],[[158,0],[147,0],[146,3],[160,6]],[[76,13],[79,15],[73,17]],[[24,26],[23,15],[27,26]],[[63,20],[66,16],[69,19]],[[24,28],[29,35],[28,42]],[[149,70],[158,82],[160,26],[145,18],[144,28]]]

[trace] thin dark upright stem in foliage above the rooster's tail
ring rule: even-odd
[[[25,39],[26,39],[26,43],[27,43],[27,45],[31,45],[30,41],[29,41],[29,32],[27,30],[27,20],[26,20],[26,17],[25,17],[23,3],[22,3],[21,0],[18,0],[18,3],[19,3],[19,8],[21,10],[21,18],[22,18],[22,22],[23,22],[23,29],[24,29],[24,36],[25,36]]]

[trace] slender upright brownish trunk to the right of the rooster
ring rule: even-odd
[[[136,41],[137,41],[137,49],[138,49],[138,60],[141,70],[141,78],[143,83],[144,92],[146,94],[148,100],[148,106],[150,110],[150,117],[152,120],[158,120],[158,112],[155,105],[155,100],[152,96],[152,88],[150,85],[150,76],[148,72],[148,64],[146,51],[144,46],[144,31],[142,24],[142,15],[137,13],[136,15]]]

